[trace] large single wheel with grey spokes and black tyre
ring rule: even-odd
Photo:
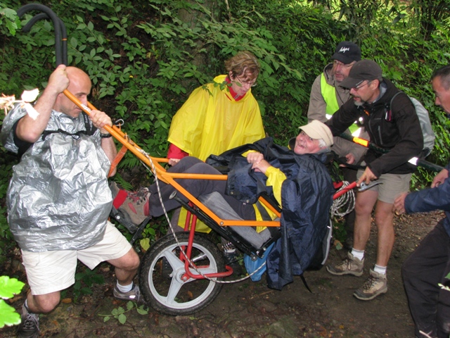
[[[186,248],[189,234],[181,232],[176,237]],[[222,287],[221,283],[207,279],[183,280],[186,270],[181,255],[173,235],[167,234],[150,247],[141,262],[139,287],[143,297],[155,310],[167,315],[189,315],[200,311],[217,297]],[[191,261],[203,274],[225,271],[219,249],[202,234],[195,234]],[[198,275],[194,268],[189,269]]]

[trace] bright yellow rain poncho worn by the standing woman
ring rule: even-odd
[[[226,75],[214,82],[223,83]],[[239,101],[231,96],[228,87],[220,89],[214,83],[195,89],[172,119],[168,141],[189,156],[200,160],[211,154],[219,155],[236,146],[253,143],[265,137],[259,106],[251,89]],[[186,210],[183,209],[179,225],[184,227]],[[197,230],[210,232],[198,222]]]

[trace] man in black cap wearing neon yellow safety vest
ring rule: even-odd
[[[339,84],[347,78],[352,66],[361,60],[361,49],[353,42],[343,41],[338,44],[335,54],[331,56],[333,63],[328,63],[323,69],[323,73],[316,77],[311,88],[308,107],[308,122],[319,120],[326,122],[342,104],[350,98],[350,91],[340,87]],[[354,123],[346,131],[354,136],[367,138],[364,128]],[[341,137],[333,137],[334,145],[331,150],[339,157],[345,157],[347,163],[359,163],[361,157],[366,152],[364,146],[354,144]],[[342,168],[342,175],[347,182],[356,180],[356,170],[352,168]],[[345,216],[345,230],[347,230],[347,240],[345,246],[351,248],[353,243],[354,211]]]

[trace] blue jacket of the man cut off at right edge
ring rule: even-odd
[[[450,171],[450,163],[446,165]],[[450,236],[450,179],[435,188],[408,194],[405,199],[406,213],[420,213],[433,210],[445,211],[444,228]]]

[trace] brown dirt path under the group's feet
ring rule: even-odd
[[[413,321],[401,282],[400,267],[406,256],[423,239],[443,213],[401,215],[395,219],[396,242],[387,278],[389,290],[373,301],[352,296],[368,276],[375,262],[373,230],[366,251],[363,277],[335,277],[323,268],[305,273],[309,293],[300,277],[276,291],[260,282],[245,280],[224,285],[210,306],[191,316],[161,315],[150,309],[140,315],[126,313],[123,325],[115,318],[104,322],[114,309],[127,307],[113,298],[113,273],[107,264],[98,269],[105,283],[94,284],[93,294],[73,301],[69,289],[64,302],[49,315],[41,315],[40,337],[414,337]],[[345,250],[332,249],[328,263],[344,258]],[[25,281],[18,251],[0,275],[18,276]],[[11,300],[20,309],[26,289]],[[14,337],[15,327],[0,330],[0,337]]]

